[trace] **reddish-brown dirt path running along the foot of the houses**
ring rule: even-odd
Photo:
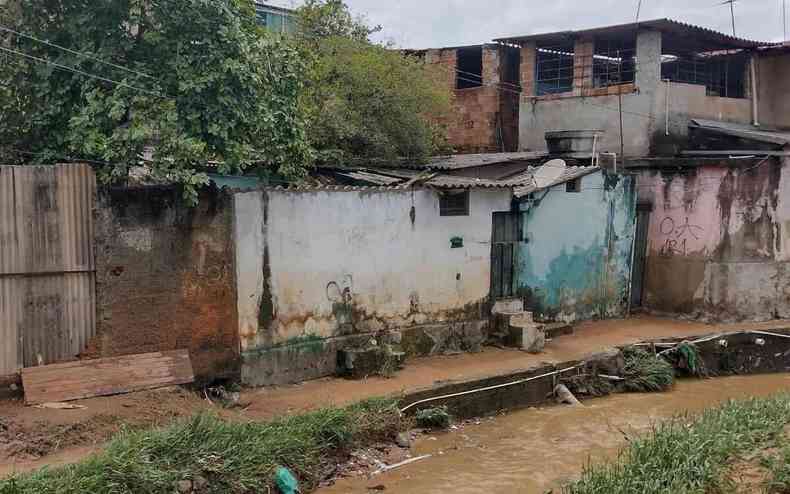
[[[233,410],[207,401],[198,392],[182,388],[81,400],[75,402],[85,407],[79,410],[40,409],[25,407],[21,400],[2,400],[0,477],[45,465],[77,461],[100,448],[122,427],[164,425],[205,410],[214,410],[233,420],[269,420],[329,405],[397,395],[437,382],[475,379],[544,362],[580,359],[615,345],[715,331],[769,329],[781,325],[773,322],[710,326],[654,317],[589,322],[578,325],[574,335],[551,342],[540,355],[486,348],[479,354],[415,359],[390,379],[370,378],[360,382],[327,378],[294,386],[244,390],[241,406]]]

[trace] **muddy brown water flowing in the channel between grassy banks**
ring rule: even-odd
[[[547,407],[481,419],[446,434],[421,437],[412,455],[433,455],[372,478],[348,478],[320,494],[544,494],[577,477],[582,467],[616,458],[627,436],[658,421],[699,412],[729,399],[790,390],[790,375],[682,381],[660,394],[622,394],[584,407]]]

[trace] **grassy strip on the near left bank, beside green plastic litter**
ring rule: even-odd
[[[317,485],[322,466],[336,456],[391,439],[401,428],[393,400],[270,423],[201,414],[161,429],[122,432],[86,461],[0,481],[0,494],[171,494],[179,481],[198,476],[208,480],[208,493],[276,492],[278,466],[293,471],[305,490]]]

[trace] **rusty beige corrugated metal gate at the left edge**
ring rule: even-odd
[[[96,329],[87,165],[0,166],[0,375],[74,358]]]

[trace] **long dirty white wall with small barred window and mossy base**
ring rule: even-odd
[[[510,200],[510,191],[474,190],[470,216],[442,217],[431,190],[237,194],[245,382],[331,374],[337,348],[359,335],[478,324],[490,288],[492,213],[509,210]],[[453,237],[463,248],[451,248]]]

